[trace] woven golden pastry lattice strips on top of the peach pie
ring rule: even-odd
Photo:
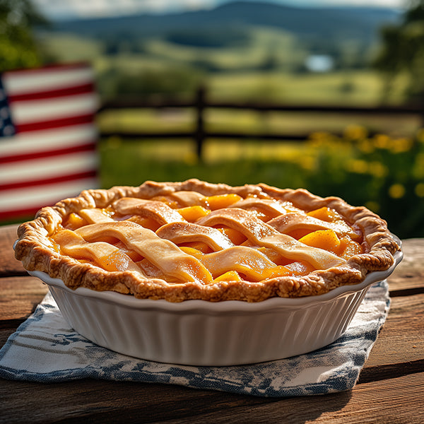
[[[198,193],[193,195],[192,192],[177,192],[169,203],[172,204],[172,201],[177,201],[175,206],[208,205],[206,196]],[[354,233],[344,221],[328,223],[302,213],[293,213],[290,210],[295,208],[285,208],[278,201],[269,199],[237,200],[228,208],[219,208],[208,213],[196,223],[188,223],[163,201],[122,198],[112,204],[112,209],[119,216],[130,220],[134,217],[150,218],[155,220],[160,228],[155,233],[126,219],[115,221],[100,209],[86,209],[80,211],[80,215],[91,225],[76,230],[79,239],[74,240],[73,247],[68,240],[64,245],[64,253],[93,260],[105,269],[105,257],[116,257],[118,265],[115,267],[119,270],[126,267],[143,276],[165,278],[172,282],[211,283],[213,278],[228,271],[241,273],[249,281],[261,281],[273,276],[298,273],[305,268],[305,265],[302,265],[305,261],[314,269],[328,269],[345,263],[345,259],[324,249],[307,246],[281,230],[306,228],[312,231],[326,228],[335,230],[338,234]],[[258,213],[263,215],[258,217]],[[281,213],[283,215],[278,216]],[[264,222],[264,216],[268,223]],[[273,218],[275,216],[278,217]],[[213,225],[232,228],[247,237],[248,242],[245,246],[235,246],[222,231],[213,228]],[[105,240],[105,237],[120,240],[124,246],[124,249],[121,249],[122,257],[118,257],[116,253],[119,251],[119,244],[105,247],[107,243],[101,241]],[[93,242],[91,247],[88,247],[89,242]],[[190,242],[205,243],[213,253],[201,254],[196,251],[196,254],[190,254],[189,250],[177,246]],[[275,254],[262,253],[260,249],[264,248],[293,263],[288,266],[277,265],[271,260]],[[132,261],[131,254],[126,254],[125,249],[136,252],[143,260]],[[112,269],[113,266],[109,266],[109,270]]]

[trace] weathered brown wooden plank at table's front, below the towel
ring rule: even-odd
[[[67,423],[114,423],[123,413],[126,423],[424,422],[423,372],[358,384],[344,393],[289,399],[88,379],[59,384],[4,383],[0,380],[0,423],[54,423],[64,422],[64,417]]]

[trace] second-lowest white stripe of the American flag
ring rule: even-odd
[[[97,169],[95,152],[73,153],[52,158],[27,160],[23,163],[6,163],[0,167],[1,184],[33,181],[72,175]]]

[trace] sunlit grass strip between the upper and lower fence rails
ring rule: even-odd
[[[367,116],[319,114],[313,112],[255,112],[253,110],[206,109],[206,131],[242,132],[243,134],[310,134],[330,131],[341,134],[350,124],[360,124],[373,132],[392,136],[413,134],[420,128],[418,116]],[[98,115],[102,131],[193,131],[196,115],[191,109],[106,110]]]

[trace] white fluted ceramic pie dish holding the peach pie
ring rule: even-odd
[[[254,303],[141,300],[71,290],[47,273],[28,272],[49,285],[66,322],[100,346],[162,363],[222,366],[288,358],[332,343],[346,331],[370,286],[386,279],[402,257],[396,252],[387,271],[372,272],[360,284]]]

